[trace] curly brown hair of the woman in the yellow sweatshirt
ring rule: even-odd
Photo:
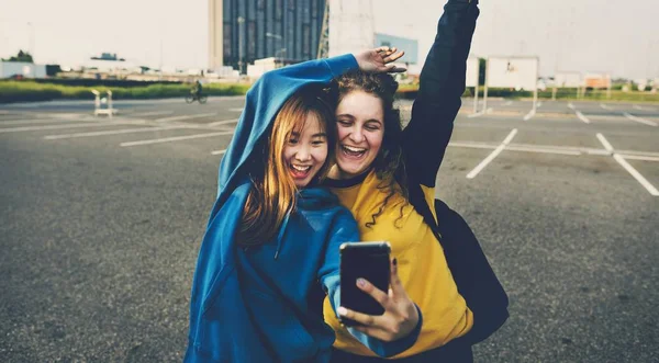
[[[405,203],[400,206],[400,215],[396,219],[400,220],[403,217],[403,208],[409,204],[409,191],[402,148],[403,126],[401,125],[400,111],[393,106],[394,94],[399,84],[392,76],[387,73],[353,71],[337,78],[333,86],[333,91],[336,92],[336,104],[353,91],[364,91],[382,101],[384,137],[372,166],[376,175],[380,180],[378,190],[387,191],[387,197],[384,197],[378,212],[372,214],[371,222],[368,222],[366,226],[370,228],[376,224],[376,218],[382,214],[390,198],[396,192],[405,198]]]

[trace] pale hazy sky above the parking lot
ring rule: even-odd
[[[255,1],[255,0],[247,0]],[[371,0],[376,32],[418,39],[424,59],[445,0]],[[138,65],[203,68],[208,0],[0,0],[0,57],[76,66],[103,52]],[[476,56],[538,56],[540,75],[659,77],[659,1],[481,0]]]

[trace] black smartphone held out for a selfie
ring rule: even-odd
[[[357,279],[366,279],[383,292],[389,291],[389,242],[345,242],[340,250],[340,306],[368,315],[382,315],[384,308],[357,287]],[[359,325],[340,317],[346,326]]]

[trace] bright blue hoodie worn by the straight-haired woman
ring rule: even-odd
[[[334,307],[339,302],[338,247],[359,240],[350,212],[325,188],[306,188],[272,240],[243,249],[234,236],[250,188],[246,161],[279,109],[301,87],[327,83],[356,68],[351,55],[306,61],[264,75],[247,92],[220,165],[217,200],[199,252],[186,362],[330,360],[334,332],[314,313],[321,302],[314,306],[310,296],[320,282]],[[351,333],[391,356],[412,347],[420,328],[421,320],[413,333],[389,343]]]

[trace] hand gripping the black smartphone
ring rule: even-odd
[[[418,324],[416,305],[403,288],[398,275],[395,259],[390,264],[391,288],[389,294],[378,290],[364,279],[357,280],[357,287],[369,294],[384,308],[382,315],[367,315],[345,307],[337,308],[338,315],[360,322],[354,329],[382,341],[394,341],[406,337]]]

